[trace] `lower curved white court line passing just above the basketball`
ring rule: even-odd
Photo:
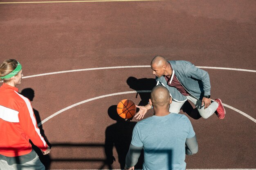
[[[49,117],[47,117],[46,119],[44,119],[43,121],[41,121],[41,122],[38,124],[38,127],[41,126],[42,124],[44,124],[44,123],[45,123],[46,121],[48,121],[49,119],[53,118],[54,116],[56,116],[56,115],[58,115],[58,114],[64,112],[65,110],[68,110],[68,109],[73,108],[73,107],[75,107],[75,106],[78,106],[78,105],[80,105],[80,104],[84,104],[84,103],[86,103],[86,102],[90,102],[90,101],[92,101],[92,100],[101,99],[101,98],[104,98],[104,97],[115,96],[115,95],[124,95],[124,94],[130,94],[130,93],[150,93],[150,92],[151,92],[151,91],[125,91],[125,92],[112,93],[112,94],[108,94],[108,95],[102,95],[102,96],[94,97],[94,98],[91,98],[91,99],[87,99],[87,100],[84,100],[84,101],[82,101],[82,102],[78,102],[78,103],[76,103],[76,104],[72,104],[71,106],[68,106],[68,107],[66,107],[66,108],[63,108],[63,109],[59,110],[58,112],[56,112],[56,113],[50,115]],[[247,117],[248,119],[250,119],[250,120],[252,120],[252,121],[254,121],[254,122],[256,123],[256,119],[254,119],[253,117],[247,115],[246,113],[244,113],[244,112],[242,112],[242,111],[240,111],[240,110],[238,110],[238,109],[236,109],[236,108],[234,108],[234,107],[232,107],[232,106],[229,106],[229,105],[227,105],[227,104],[224,104],[224,103],[222,103],[222,104],[223,104],[223,106],[226,106],[226,107],[228,107],[228,108],[230,108],[230,109],[232,109],[232,110],[235,110],[236,112],[240,113],[241,115],[244,115],[245,117]]]

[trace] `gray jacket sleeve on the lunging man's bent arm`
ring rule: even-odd
[[[197,68],[191,62],[188,62],[185,67],[186,67],[186,74],[189,77],[199,79],[202,81],[204,95],[211,95],[210,76],[207,73],[207,71]]]

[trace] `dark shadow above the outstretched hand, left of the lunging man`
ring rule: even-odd
[[[136,77],[129,77],[126,82],[135,91],[151,91],[156,86],[156,80],[148,78],[137,79]],[[148,99],[150,99],[150,93],[137,92],[136,98],[138,95],[141,98],[138,105],[146,106]]]

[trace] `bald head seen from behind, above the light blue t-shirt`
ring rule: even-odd
[[[170,94],[166,87],[162,85],[155,86],[150,95],[153,106],[162,107],[170,104]]]

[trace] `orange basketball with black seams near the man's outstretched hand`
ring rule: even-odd
[[[131,100],[123,99],[117,104],[117,113],[124,119],[130,119],[136,113],[136,106]]]

